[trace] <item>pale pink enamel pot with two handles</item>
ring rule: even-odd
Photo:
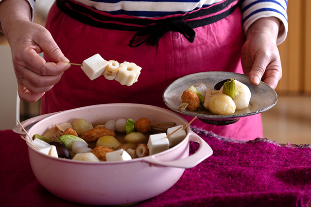
[[[151,122],[170,122],[186,126],[188,122],[167,109],[142,104],[101,104],[68,111],[41,115],[21,124],[34,124],[28,134],[43,135],[54,124],[73,122],[83,118],[100,124],[120,118]],[[17,125],[13,129],[24,134]],[[122,205],[143,201],[170,189],[186,168],[192,168],[212,155],[210,146],[199,136],[186,129],[187,136],[178,145],[164,152],[129,161],[84,162],[55,158],[42,154],[28,144],[29,158],[36,179],[55,196],[88,205]],[[189,156],[190,141],[200,144]]]

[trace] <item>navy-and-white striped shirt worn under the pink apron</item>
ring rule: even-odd
[[[35,17],[35,0],[28,0]],[[224,0],[76,0],[89,7],[111,15],[129,15],[152,18],[168,15],[184,14],[200,8],[217,4]],[[242,24],[246,33],[250,25],[261,17],[277,17],[280,29],[277,44],[281,44],[288,32],[287,0],[240,0]]]

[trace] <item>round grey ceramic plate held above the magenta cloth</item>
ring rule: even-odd
[[[207,88],[213,89],[214,86],[225,79],[233,78],[249,87],[252,97],[248,108],[236,110],[232,115],[215,115],[206,109],[195,111],[178,110],[181,104],[181,95],[190,86],[204,83]],[[227,125],[239,121],[240,118],[258,114],[272,108],[277,102],[277,94],[267,84],[260,82],[258,86],[252,85],[248,76],[233,72],[199,72],[183,76],[168,86],[163,93],[164,103],[173,111],[192,117],[197,117],[201,121],[213,125]]]

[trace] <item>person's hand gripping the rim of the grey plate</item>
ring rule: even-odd
[[[280,55],[276,46],[279,20],[276,17],[260,18],[246,33],[242,47],[242,68],[252,84],[260,80],[276,88],[282,77]]]

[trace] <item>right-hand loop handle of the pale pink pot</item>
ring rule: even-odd
[[[205,160],[207,157],[213,154],[213,150],[211,147],[204,141],[202,138],[200,138],[197,134],[189,131],[189,141],[194,141],[200,144],[199,149],[193,154],[190,155],[184,159],[179,160],[173,160],[168,162],[162,162],[155,159],[155,156],[146,156],[143,161],[160,165],[160,166],[166,166],[166,167],[175,167],[175,168],[193,168],[199,163],[201,163],[203,160]]]

